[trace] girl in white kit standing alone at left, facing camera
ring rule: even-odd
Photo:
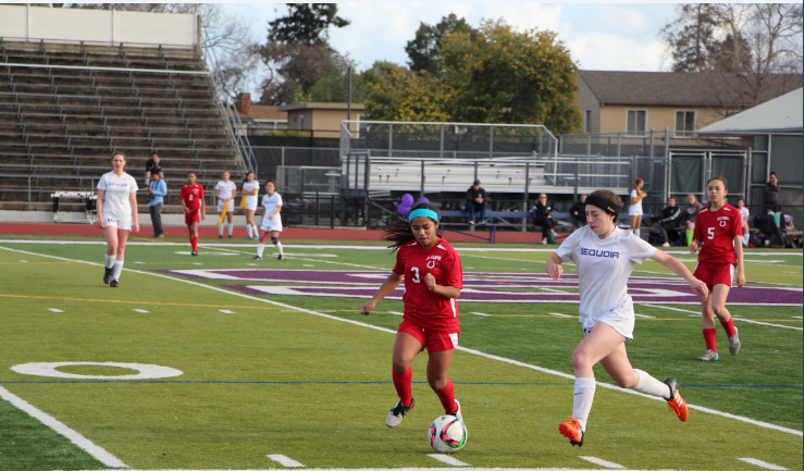
[[[98,182],[98,227],[107,239],[103,283],[116,288],[123,273],[128,234],[139,232],[137,182],[125,173],[125,153],[114,152],[112,171]]]

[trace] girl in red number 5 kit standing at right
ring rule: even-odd
[[[740,351],[740,336],[726,309],[726,298],[729,296],[734,280],[737,265],[737,286],[745,284],[743,269],[743,220],[740,210],[726,202],[726,178],[716,176],[706,184],[709,194],[709,206],[697,213],[695,220],[695,235],[690,244],[690,252],[698,253],[698,263],[694,276],[709,288],[709,295],[701,298],[703,307],[704,340],[706,352],[698,357],[702,361],[716,361],[717,355],[715,338],[715,315],[729,336],[729,352],[737,355]]]

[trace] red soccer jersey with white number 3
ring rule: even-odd
[[[394,273],[405,276],[405,317],[417,325],[436,331],[459,332],[458,300],[447,299],[428,288],[424,276],[432,273],[435,284],[463,288],[463,270],[453,246],[438,237],[438,244],[423,249],[413,240],[399,247]]]

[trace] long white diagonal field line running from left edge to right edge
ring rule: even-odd
[[[67,259],[65,257],[57,257],[57,256],[49,256],[49,255],[45,255],[45,253],[29,252],[29,251],[26,251],[26,250],[12,249],[12,248],[2,247],[2,246],[0,246],[0,249],[8,250],[8,251],[11,251],[11,252],[25,253],[25,255],[35,256],[35,257],[49,258],[49,259],[53,259],[53,260],[62,260],[62,261],[75,262],[75,263],[84,263],[84,264],[91,265],[91,267],[102,267],[103,265],[102,263],[88,262],[86,260]],[[319,318],[324,318],[324,319],[330,319],[330,320],[333,320],[333,321],[344,322],[344,323],[347,323],[347,324],[358,325],[358,326],[361,326],[361,327],[371,329],[371,330],[380,331],[380,332],[385,332],[385,333],[393,334],[393,335],[396,335],[397,334],[396,331],[391,330],[391,329],[385,329],[385,327],[381,327],[381,326],[378,326],[378,325],[371,325],[371,324],[367,324],[367,323],[363,323],[363,322],[352,321],[351,319],[343,319],[343,318],[338,318],[336,315],[324,314],[324,313],[321,313],[319,311],[313,311],[311,309],[299,308],[299,307],[296,307],[296,306],[286,305],[284,302],[274,301],[272,299],[258,298],[256,296],[247,295],[245,293],[236,293],[236,292],[224,289],[224,288],[221,288],[221,287],[218,287],[218,286],[205,285],[203,283],[195,282],[195,281],[191,281],[191,280],[182,280],[182,278],[176,278],[176,277],[173,277],[173,276],[165,275],[163,273],[144,272],[144,271],[133,270],[133,269],[126,269],[126,268],[124,268],[123,270],[125,270],[127,272],[132,272],[132,273],[138,273],[138,274],[141,274],[141,275],[157,276],[157,277],[160,277],[160,278],[171,280],[171,281],[178,282],[178,283],[184,283],[184,284],[188,284],[188,285],[199,286],[199,287],[205,288],[205,289],[211,289],[213,292],[225,293],[225,294],[227,294],[230,296],[235,296],[235,297],[244,298],[244,299],[250,299],[252,301],[258,301],[258,302],[264,302],[267,305],[273,305],[273,306],[281,307],[281,308],[293,309],[293,310],[295,310],[297,312],[304,312],[304,313],[307,313],[307,314],[317,315]],[[653,306],[653,305],[651,305],[651,306]],[[467,354],[470,354],[470,355],[475,355],[478,357],[488,358],[491,360],[496,360],[496,361],[500,361],[500,362],[508,363],[508,364],[514,364],[516,367],[527,368],[527,369],[533,370],[533,371],[540,371],[542,373],[552,374],[554,376],[566,377],[568,380],[574,380],[576,379],[576,376],[573,376],[573,375],[571,375],[569,373],[564,373],[561,371],[551,370],[548,368],[536,367],[535,364],[524,363],[524,362],[518,361],[518,360],[511,360],[510,358],[504,358],[504,357],[498,357],[496,355],[485,354],[485,352],[482,352],[482,351],[479,351],[479,350],[473,350],[471,348],[457,347],[456,350],[460,350],[460,351],[463,351],[463,352],[467,352]],[[659,400],[659,401],[665,402],[665,399],[661,398],[661,397],[650,396],[647,394],[638,393],[638,392],[635,392],[633,389],[623,389],[623,388],[621,388],[619,386],[616,386],[616,385],[613,385],[613,384],[599,383],[598,382],[598,383],[596,383],[596,385],[598,387],[605,387],[607,389],[619,391],[620,393],[631,394],[631,395],[634,395],[634,396],[644,397],[646,399]],[[691,405],[689,402],[688,402],[687,406],[690,409],[698,410],[701,412],[710,413],[713,416],[725,417],[727,419],[733,419],[733,420],[737,420],[737,421],[740,421],[740,422],[750,423],[752,425],[760,426],[760,427],[764,427],[764,429],[770,429],[770,430],[776,430],[776,431],[783,432],[783,433],[789,433],[791,435],[804,436],[804,432],[802,432],[800,430],[788,429],[786,426],[780,426],[780,425],[776,425],[776,424],[772,424],[772,423],[763,422],[763,421],[759,421],[759,420],[749,419],[747,417],[734,416],[732,413],[721,412],[719,410],[709,409],[707,407],[694,406],[694,405]]]

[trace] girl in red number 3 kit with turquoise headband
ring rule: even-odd
[[[371,300],[360,308],[361,314],[369,315],[405,278],[405,313],[394,343],[392,370],[399,402],[385,419],[388,426],[399,425],[416,406],[410,392],[410,363],[425,348],[430,387],[438,395],[444,412],[462,420],[447,370],[458,346],[457,298],[463,288],[463,272],[458,253],[437,235],[437,230],[438,210],[430,203],[416,204],[408,221],[388,227],[384,239],[393,241],[391,248],[398,250],[396,265]]]

